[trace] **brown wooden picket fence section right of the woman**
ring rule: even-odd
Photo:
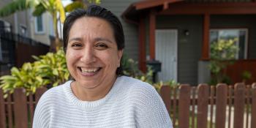
[[[162,86],[160,94],[175,128],[256,128],[256,83]]]

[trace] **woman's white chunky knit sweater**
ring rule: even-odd
[[[148,83],[118,77],[110,92],[97,101],[81,101],[67,81],[42,95],[33,128],[172,128],[157,91]]]

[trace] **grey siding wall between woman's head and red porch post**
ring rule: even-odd
[[[125,48],[124,53],[127,53],[129,58],[138,61],[138,26],[131,23],[126,23],[122,18],[121,14],[126,10],[130,4],[139,0],[105,0],[102,1],[100,6],[113,12],[118,16],[119,20],[123,25],[124,37],[125,37]]]

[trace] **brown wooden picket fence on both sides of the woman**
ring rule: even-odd
[[[0,128],[31,127],[34,108],[46,90],[26,96],[16,89],[4,99],[0,89]],[[256,83],[162,86],[160,94],[175,128],[256,128]]]

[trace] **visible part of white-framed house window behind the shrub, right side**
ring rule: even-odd
[[[234,45],[239,48],[236,54],[236,59],[247,58],[247,29],[211,29],[210,30],[210,43],[218,42],[219,39],[236,39]]]

